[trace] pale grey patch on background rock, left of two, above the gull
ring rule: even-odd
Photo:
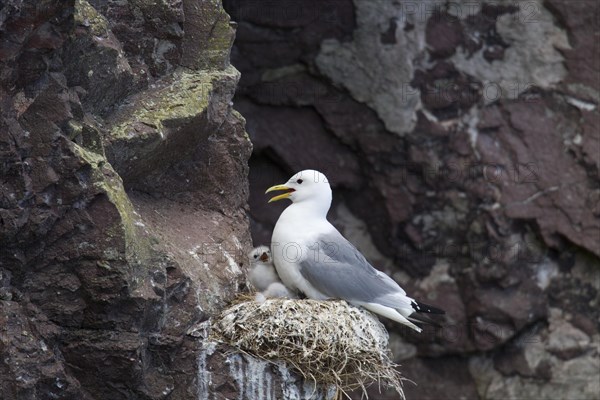
[[[393,2],[354,4],[357,27],[352,41],[324,40],[316,65],[337,86],[375,110],[387,130],[410,132],[420,107],[418,92],[410,85],[412,60],[425,48],[425,26]],[[407,24],[416,29],[397,35]]]

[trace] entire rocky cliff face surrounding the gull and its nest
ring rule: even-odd
[[[593,398],[596,2],[225,7],[235,98],[219,2],[0,5],[2,396],[309,396],[205,339],[249,223],[267,243],[284,206],[264,189],[310,167],[336,225],[448,311],[389,325],[408,398]]]

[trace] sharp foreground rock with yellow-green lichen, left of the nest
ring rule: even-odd
[[[251,245],[233,38],[218,1],[0,5],[3,399],[304,390],[262,364],[256,386],[226,348],[207,361],[196,334]]]

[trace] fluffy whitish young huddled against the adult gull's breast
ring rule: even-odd
[[[250,259],[248,280],[258,291],[255,296],[257,301],[262,303],[268,298],[296,298],[296,295],[289,291],[277,276],[271,250],[267,246],[255,247],[248,254],[248,258]]]

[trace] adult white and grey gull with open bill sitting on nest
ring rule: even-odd
[[[332,194],[325,175],[304,170],[265,193],[273,191],[284,193],[269,203],[292,201],[277,220],[271,241],[275,268],[288,289],[315,300],[346,300],[417,332],[421,328],[413,322],[430,322],[417,313],[444,313],[407,296],[327,221]]]

